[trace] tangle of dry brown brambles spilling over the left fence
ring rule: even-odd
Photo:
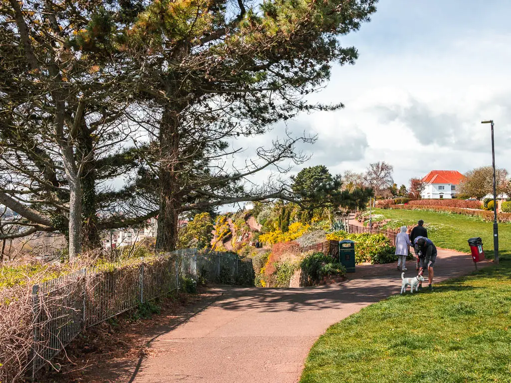
[[[155,259],[146,260],[155,261]],[[32,294],[33,285],[39,285],[92,265],[105,274],[113,270],[119,271],[120,267],[132,268],[142,262],[138,258],[126,261],[125,265],[99,262],[98,253],[88,253],[73,264],[63,264],[58,260],[44,262],[33,258],[18,258],[4,264],[0,268],[2,277],[0,282],[0,382],[21,380],[32,366],[34,347],[43,349],[48,342],[42,336],[37,344],[34,343],[34,331],[37,329],[42,334],[47,323],[52,320],[52,315],[55,316],[58,312],[58,307],[66,307],[69,296],[82,293],[80,283],[71,284],[74,287],[70,287],[69,283],[62,280],[53,286],[54,292],[51,296],[45,297],[44,300],[38,299],[36,305]],[[59,289],[59,286],[64,283],[68,287],[64,290]],[[35,307],[37,314],[34,314]],[[37,323],[34,320],[36,317]]]

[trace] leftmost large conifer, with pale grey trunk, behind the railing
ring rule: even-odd
[[[134,157],[112,148],[130,134],[120,117],[132,82],[118,40],[140,10],[129,1],[0,3],[0,202],[27,227],[11,237],[60,231],[71,257],[83,233],[99,246],[98,183]]]

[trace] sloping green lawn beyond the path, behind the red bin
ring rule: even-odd
[[[386,226],[397,228],[424,220],[428,236],[438,247],[470,252],[467,240],[481,237],[487,257],[493,258],[493,223],[481,219],[434,211],[416,211],[401,209],[375,209],[392,221]],[[499,224],[499,257],[511,259],[511,224]]]

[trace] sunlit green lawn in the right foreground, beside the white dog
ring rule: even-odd
[[[331,326],[300,383],[511,382],[511,261],[435,287]]]

